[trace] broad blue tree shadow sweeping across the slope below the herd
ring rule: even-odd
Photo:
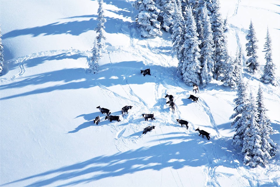
[[[137,132],[131,136],[138,136],[140,133]],[[235,162],[232,164],[232,160],[236,158],[232,157],[234,149],[229,146],[231,139],[208,141],[195,135],[174,137],[176,140],[178,138],[184,139],[184,141],[174,144],[169,141],[172,138],[164,138],[160,140],[164,143],[155,146],[141,147],[113,155],[100,155],[84,162],[49,170],[2,185],[11,185],[22,181],[27,183],[32,179],[35,182],[26,186],[55,185],[53,183],[58,181],[60,183],[64,181],[60,186],[72,186],[150,169],[160,171],[164,168],[181,169],[199,166],[236,168],[239,166]]]

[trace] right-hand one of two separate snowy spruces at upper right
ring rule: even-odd
[[[267,34],[266,34],[266,42],[264,45],[265,51],[265,68],[262,77],[260,80],[264,83],[271,83],[272,85],[275,85],[275,65],[272,62],[272,44],[271,44],[271,37],[269,34],[269,30],[267,28]]]

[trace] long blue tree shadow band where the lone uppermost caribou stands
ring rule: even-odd
[[[80,56],[81,58],[84,56]],[[79,58],[76,55],[68,56],[65,53],[60,55],[55,55],[53,57],[43,57],[40,60],[61,60],[65,58]],[[27,66],[36,65],[36,60],[31,60],[27,62]],[[140,70],[148,69],[151,70],[151,76],[146,75],[145,77],[140,73]],[[165,72],[162,75],[161,72]],[[172,77],[174,72],[176,72],[176,67],[162,67],[159,65],[149,65],[146,66],[143,62],[129,61],[129,62],[120,62],[114,64],[106,64],[100,66],[100,72],[97,74],[85,74],[85,69],[83,68],[72,68],[72,69],[62,69],[55,70],[52,72],[44,72],[36,75],[25,76],[22,75],[22,80],[1,85],[1,89],[20,89],[29,85],[43,85],[44,83],[53,82],[52,86],[35,89],[27,91],[25,93],[19,93],[15,95],[10,95],[0,98],[0,100],[16,98],[20,96],[28,96],[38,93],[48,93],[55,90],[67,90],[67,89],[87,89],[94,86],[105,86],[110,87],[113,85],[127,85],[127,84],[144,84],[147,82],[158,82],[158,77],[161,80],[168,80],[169,77]],[[73,82],[74,80],[79,80],[78,82]],[[64,84],[56,84],[56,82],[64,82]]]

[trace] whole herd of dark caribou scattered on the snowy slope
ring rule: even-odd
[[[146,69],[146,70],[141,70],[141,74],[143,76],[151,75],[150,74],[150,68]],[[192,92],[194,92],[194,91],[195,91],[195,93],[197,93],[197,92],[199,93],[198,86],[195,85],[195,84],[193,84],[193,89],[192,89]],[[165,98],[168,98],[169,101],[167,101],[166,104],[169,105],[169,108],[171,108],[171,112],[174,113],[175,112],[174,96],[166,94]],[[196,102],[196,103],[198,101],[198,97],[196,97],[194,95],[190,95],[188,97],[188,99],[192,99],[192,101]],[[101,108],[100,106],[98,106],[96,108],[98,108],[102,114],[106,114],[105,120],[108,119],[108,120],[110,120],[110,122],[112,122],[112,120],[120,122],[120,116],[110,115],[111,112],[110,112],[109,109]],[[121,109],[122,117],[124,117],[125,114],[128,114],[129,109],[132,109],[132,106],[126,105],[126,106],[122,107],[122,109]],[[142,117],[145,118],[145,121],[148,121],[149,118],[151,119],[151,121],[155,120],[154,114],[142,114]],[[179,124],[181,124],[181,127],[183,127],[183,125],[185,125],[187,129],[189,128],[189,126],[188,126],[189,122],[188,121],[181,120],[181,119],[176,119],[176,120]],[[95,118],[95,120],[93,120],[93,122],[96,125],[98,125],[98,123],[100,122],[99,115]],[[155,126],[148,126],[143,130],[143,134],[146,134],[148,131],[151,131],[153,129],[155,129]],[[204,138],[204,136],[206,136],[206,138],[208,140],[210,139],[209,133],[204,131],[204,130],[200,130],[199,127],[195,131],[199,132],[198,136],[202,135],[202,138]]]

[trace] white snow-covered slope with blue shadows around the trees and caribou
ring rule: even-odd
[[[245,53],[252,19],[261,69],[267,27],[277,82],[280,1],[220,0],[228,16],[228,47]],[[236,91],[212,81],[192,87],[176,75],[170,34],[143,39],[131,2],[104,1],[105,36],[100,72],[87,72],[97,26],[97,1],[1,0],[5,69],[0,77],[1,186],[280,186],[279,152],[267,167],[243,165],[231,145]],[[244,56],[246,58],[246,56]],[[150,68],[151,76],[140,74]],[[244,73],[248,91],[264,90],[273,141],[280,143],[280,90]],[[174,96],[175,112],[165,104]],[[105,120],[97,106],[121,122]],[[133,106],[122,117],[121,108]],[[142,113],[154,113],[148,122]],[[100,115],[100,123],[93,119]],[[189,121],[189,128],[176,122]],[[143,129],[155,129],[143,135]],[[210,140],[195,129],[208,131]]]

